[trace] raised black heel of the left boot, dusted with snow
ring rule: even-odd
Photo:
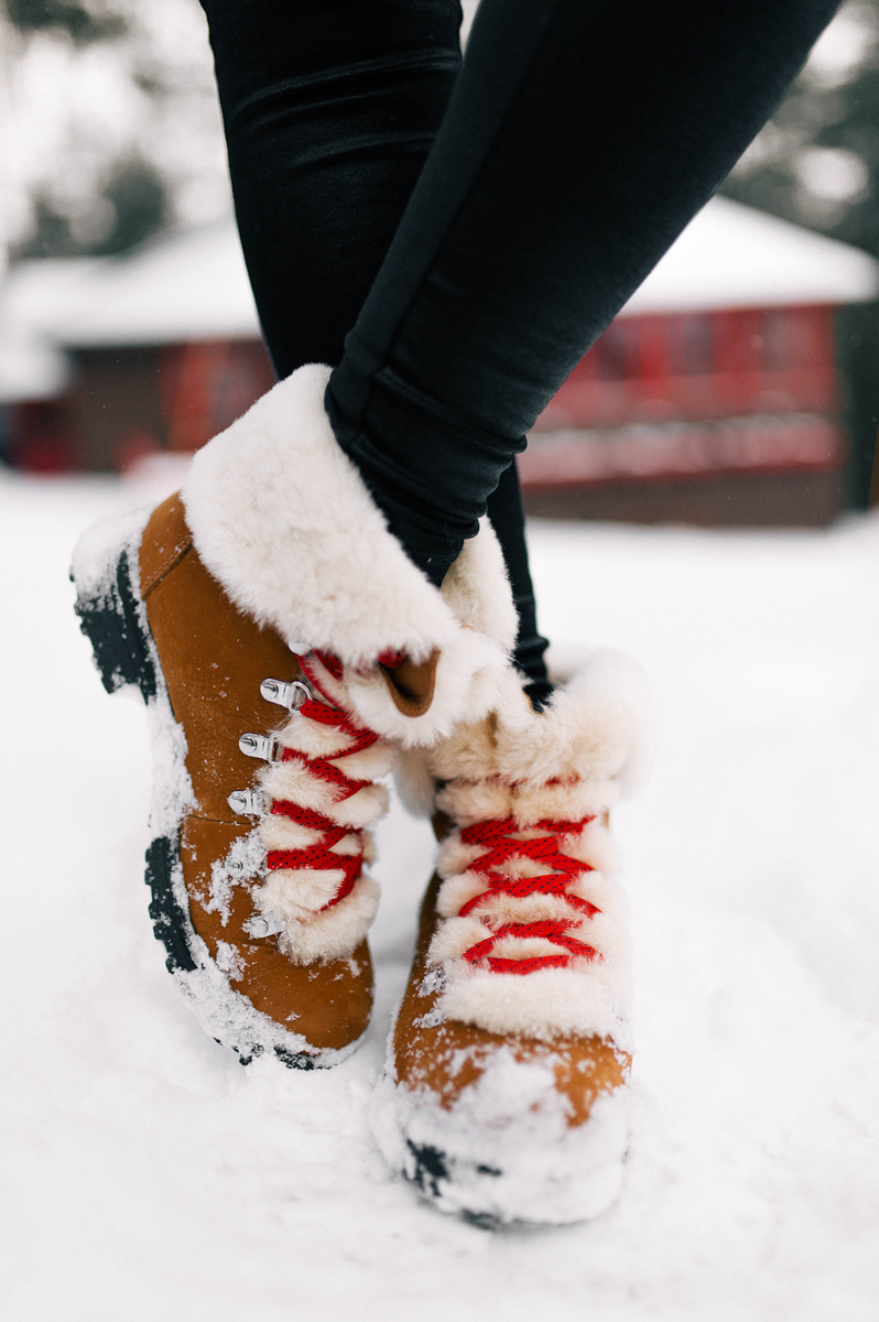
[[[149,702],[156,695],[156,668],[145,612],[132,582],[132,546],[116,545],[98,566],[93,561],[85,567],[77,554],[70,576],[77,587],[79,628],[91,644],[104,689],[115,693],[135,685]]]

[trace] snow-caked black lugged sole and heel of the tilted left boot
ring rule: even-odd
[[[70,574],[77,588],[74,609],[91,644],[107,693],[135,687],[153,714],[161,710],[165,720],[176,726],[159,653],[132,572],[144,520],[145,516],[123,517],[115,527],[103,525],[85,534],[74,553]],[[83,543],[90,545],[83,549]],[[178,829],[153,837],[145,865],[149,917],[156,940],[165,948],[165,966],[215,1042],[235,1051],[243,1066],[271,1050],[289,1069],[330,1068],[354,1051],[357,1042],[334,1051],[296,1050],[296,1034],[275,1025],[229,986],[189,917]],[[251,1040],[243,1040],[250,1036],[242,1031],[247,1021]],[[272,1040],[279,1035],[287,1042]]]

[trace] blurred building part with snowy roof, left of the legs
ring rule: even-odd
[[[126,258],[22,263],[0,291],[16,468],[120,471],[192,452],[272,382],[233,222]]]

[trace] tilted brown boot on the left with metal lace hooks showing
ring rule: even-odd
[[[137,686],[151,715],[168,968],[242,1062],[296,1068],[341,1060],[369,1022],[375,781],[494,702],[516,628],[490,526],[449,575],[464,600],[500,590],[486,631],[407,559],[336,444],[326,377],[280,382],[181,496],[96,525],[73,567],[104,686]]]

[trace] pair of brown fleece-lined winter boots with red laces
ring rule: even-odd
[[[537,713],[488,524],[441,590],[407,559],[303,368],[196,456],[181,494],[77,547],[108,690],[156,758],[151,916],[213,1036],[332,1066],[369,1023],[370,826],[397,769],[438,874],[373,1128],[447,1211],[568,1222],[616,1196],[629,1073],[608,812],[642,693],[596,654]]]

